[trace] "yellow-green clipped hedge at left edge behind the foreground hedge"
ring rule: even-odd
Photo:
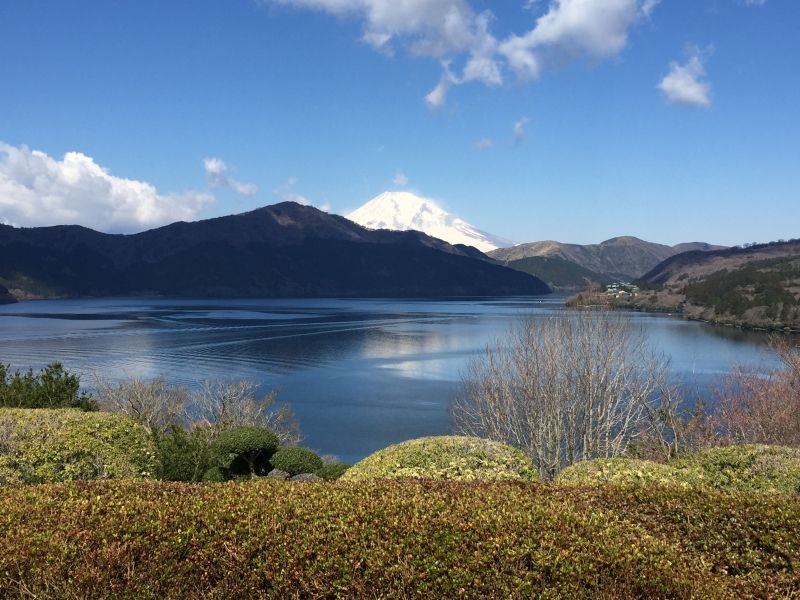
[[[0,485],[152,477],[150,435],[130,419],[76,409],[0,409]]]

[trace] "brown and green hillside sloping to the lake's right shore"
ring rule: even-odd
[[[624,307],[745,327],[800,330],[800,240],[688,252],[644,275]],[[594,300],[585,297],[583,303]]]

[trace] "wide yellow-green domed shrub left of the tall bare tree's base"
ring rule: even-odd
[[[499,442],[439,436],[389,446],[353,465],[342,481],[370,479],[522,480],[538,479],[525,454]]]

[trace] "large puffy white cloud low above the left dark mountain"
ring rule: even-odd
[[[160,194],[144,181],[111,175],[91,157],[61,160],[0,142],[0,219],[25,227],[77,224],[132,232],[192,221],[214,202],[208,193]]]

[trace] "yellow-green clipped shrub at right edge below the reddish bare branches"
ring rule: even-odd
[[[726,491],[800,493],[800,449],[724,446],[692,452],[670,463],[693,469],[703,485]]]

